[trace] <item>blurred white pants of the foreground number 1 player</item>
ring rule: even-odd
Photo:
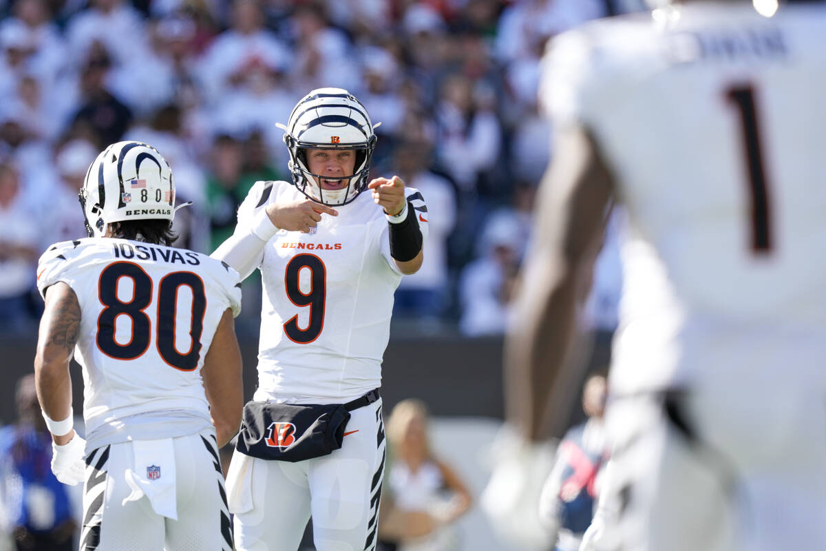
[[[796,369],[720,373],[667,406],[614,401],[600,549],[824,549],[826,392]]]

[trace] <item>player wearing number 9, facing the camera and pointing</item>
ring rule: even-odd
[[[376,545],[382,354],[393,292],[421,265],[428,214],[401,178],[368,183],[373,128],[346,90],[301,99],[284,127],[292,183],[255,183],[235,235],[213,253],[242,278],[259,268],[263,281],[259,387],[227,475],[236,549],[297,549],[311,516],[320,551]],[[340,449],[272,460],[310,432],[282,422],[284,404],[348,404]],[[266,444],[241,453],[253,425]]]

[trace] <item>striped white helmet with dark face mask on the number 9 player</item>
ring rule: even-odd
[[[367,187],[370,159],[376,146],[376,135],[367,109],[342,88],[317,88],[297,103],[284,131],[284,143],[290,152],[287,165],[292,183],[306,197],[330,206],[346,205]],[[355,150],[354,173],[326,179],[347,180],[342,189],[323,189],[316,180],[319,174],[307,168],[306,149]]]

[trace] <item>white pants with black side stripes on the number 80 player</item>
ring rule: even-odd
[[[215,431],[95,449],[83,511],[81,551],[231,551]]]

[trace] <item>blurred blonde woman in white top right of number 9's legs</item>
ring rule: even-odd
[[[471,505],[458,474],[431,452],[428,422],[424,402],[411,398],[397,403],[387,420],[392,462],[378,532],[396,541],[398,551],[459,549],[453,522]]]

